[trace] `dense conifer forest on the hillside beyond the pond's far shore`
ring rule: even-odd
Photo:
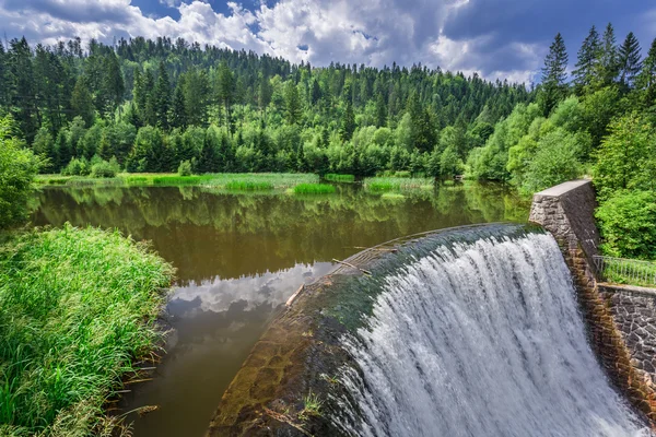
[[[313,68],[214,46],[80,39],[0,48],[0,110],[43,172],[461,173],[523,84],[393,64]],[[86,163],[86,164],[85,164]],[[72,164],[72,165],[71,165]]]

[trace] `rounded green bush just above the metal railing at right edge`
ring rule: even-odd
[[[656,259],[656,192],[622,190],[597,209],[604,253]]]

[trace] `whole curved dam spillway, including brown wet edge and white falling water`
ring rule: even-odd
[[[210,435],[651,435],[593,354],[550,235],[455,229],[350,262],[373,274],[342,267],[301,293]]]

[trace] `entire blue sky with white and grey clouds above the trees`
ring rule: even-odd
[[[618,43],[633,32],[646,54],[656,37],[654,0],[0,0],[0,32],[31,44],[79,36],[168,36],[254,50],[313,66],[331,61],[478,72],[539,81],[562,33],[570,63],[591,25]]]

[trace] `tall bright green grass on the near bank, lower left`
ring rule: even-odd
[[[173,268],[96,228],[0,246],[0,435],[109,435],[105,401],[156,349]]]

